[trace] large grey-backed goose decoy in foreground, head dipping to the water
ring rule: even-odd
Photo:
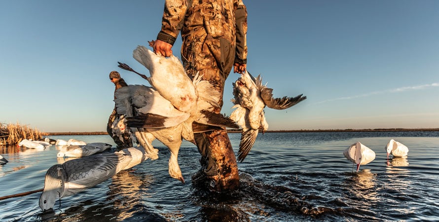
[[[45,211],[56,199],[70,196],[98,185],[146,160],[143,148],[126,148],[113,153],[99,153],[56,164],[47,170],[39,207]]]

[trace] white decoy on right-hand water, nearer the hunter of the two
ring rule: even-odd
[[[375,159],[375,152],[357,142],[343,151],[343,155],[353,163],[357,164],[357,172],[360,169],[360,165],[366,165]]]

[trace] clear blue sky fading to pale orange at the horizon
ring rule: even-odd
[[[438,128],[438,0],[244,0],[247,70],[275,97],[269,130]],[[0,2],[0,123],[42,132],[106,131],[118,71],[161,27],[163,0]],[[173,52],[180,58],[181,37]],[[231,73],[222,113],[229,115]]]

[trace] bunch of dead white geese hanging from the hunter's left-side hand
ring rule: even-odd
[[[135,72],[126,64],[119,63],[119,67],[141,75],[153,88],[129,85],[118,89],[114,100],[117,112],[126,115],[129,127],[136,128],[132,131],[153,159],[158,158],[157,149],[151,145],[154,139],[169,148],[169,175],[184,183],[178,152],[182,138],[194,143],[192,123],[231,128],[238,126],[222,114],[208,110],[219,106],[219,92],[208,81],[201,80],[199,75],[190,80],[175,56],[167,59],[139,46],[134,50],[133,57],[149,70],[151,77]]]

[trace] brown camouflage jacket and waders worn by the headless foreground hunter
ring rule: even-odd
[[[247,62],[247,10],[242,0],[165,0],[162,29],[157,39],[174,44],[181,32],[182,61],[193,78],[203,75],[220,92],[233,64]],[[233,190],[239,185],[236,157],[224,130],[194,135],[209,188]]]

